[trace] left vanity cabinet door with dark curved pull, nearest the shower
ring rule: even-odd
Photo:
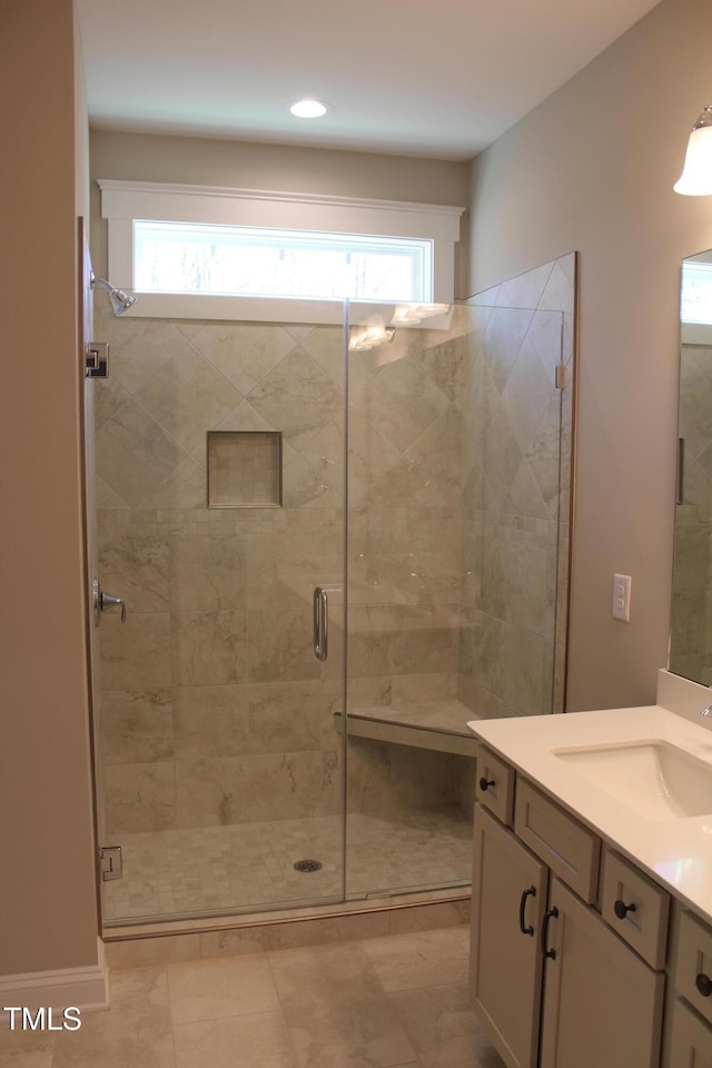
[[[472,1006],[508,1068],[537,1064],[547,882],[546,866],[476,804]]]

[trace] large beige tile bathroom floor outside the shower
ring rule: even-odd
[[[78,1031],[0,1025],[2,1068],[504,1068],[467,1007],[468,928],[112,971]]]

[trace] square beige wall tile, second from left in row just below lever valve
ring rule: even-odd
[[[178,686],[229,685],[247,675],[245,612],[175,612],[174,680]]]

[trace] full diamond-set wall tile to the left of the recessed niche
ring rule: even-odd
[[[185,451],[134,399],[96,434],[97,474],[132,507],[186,458]]]

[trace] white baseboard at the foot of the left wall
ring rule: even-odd
[[[0,1021],[9,1018],[4,1006],[22,1006],[36,1011],[46,1006],[60,1011],[68,1006],[81,1012],[109,1008],[108,972],[103,942],[98,939],[98,961],[83,968],[59,968],[56,971],[31,971],[0,976]]]

